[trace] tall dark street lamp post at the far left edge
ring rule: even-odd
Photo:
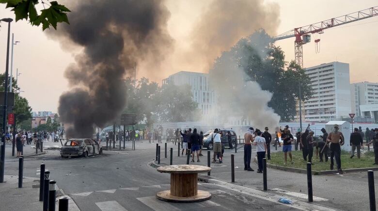
[[[6,115],[7,115],[7,105],[8,105],[8,69],[9,69],[9,35],[11,33],[11,22],[12,18],[2,18],[0,22],[4,21],[8,23],[8,38],[7,38],[7,59],[5,62],[5,83],[4,83],[4,109],[2,113],[2,137],[1,137],[1,156],[0,156],[0,182],[4,182],[4,164],[5,164],[5,124],[6,124]]]

